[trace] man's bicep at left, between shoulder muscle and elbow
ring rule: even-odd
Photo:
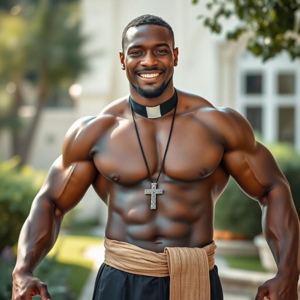
[[[65,214],[80,202],[96,173],[93,161],[76,161],[65,165],[60,155],[50,167],[39,194]]]

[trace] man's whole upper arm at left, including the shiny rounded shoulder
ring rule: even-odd
[[[63,214],[78,204],[98,172],[89,157],[93,135],[88,123],[93,119],[94,116],[81,118],[69,128],[62,154],[53,162],[39,192]]]

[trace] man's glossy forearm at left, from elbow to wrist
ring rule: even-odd
[[[35,270],[55,244],[62,219],[53,203],[45,197],[35,197],[19,235],[14,273]]]

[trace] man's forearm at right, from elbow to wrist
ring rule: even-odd
[[[269,191],[262,207],[262,230],[277,264],[278,273],[299,272],[299,219],[289,186]]]

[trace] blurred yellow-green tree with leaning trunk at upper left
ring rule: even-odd
[[[0,126],[13,133],[13,155],[20,155],[20,166],[28,158],[30,146],[49,94],[72,85],[79,74],[89,70],[83,44],[90,36],[80,32],[78,1],[27,0],[0,2],[0,88],[13,83],[9,109],[2,109]],[[24,123],[18,111],[25,104],[22,82],[29,80],[37,91],[35,114]],[[5,94],[5,93],[4,93]],[[8,93],[3,99],[8,98]],[[4,101],[5,102],[5,101]],[[4,113],[3,113],[4,112]]]

